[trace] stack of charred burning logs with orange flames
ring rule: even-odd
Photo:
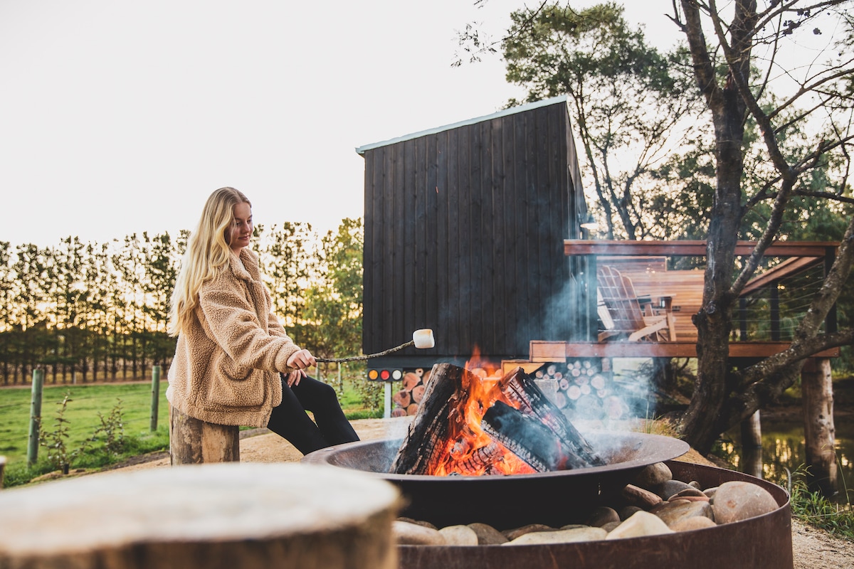
[[[389,472],[478,476],[601,464],[523,369],[496,376],[438,363]]]

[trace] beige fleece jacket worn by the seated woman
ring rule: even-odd
[[[272,313],[258,256],[244,248],[202,284],[199,304],[178,334],[166,396],[186,415],[218,425],[265,427],[282,402],[279,372],[299,348]]]

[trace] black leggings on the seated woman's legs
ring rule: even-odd
[[[306,411],[314,414],[317,424]],[[304,377],[292,387],[282,378],[282,403],[272,409],[267,428],[288,439],[303,455],[359,440],[338,404],[335,390],[313,377]]]

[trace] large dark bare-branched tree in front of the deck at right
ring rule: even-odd
[[[682,423],[682,437],[701,452],[711,450],[720,433],[792,386],[806,357],[854,341],[854,330],[830,334],[821,330],[851,271],[854,217],[850,217],[834,264],[798,325],[792,345],[738,371],[731,369],[728,360],[734,306],[763,252],[779,236],[785,213],[793,206],[793,195],[850,201],[844,195],[850,191],[845,174],[852,140],[852,20],[845,14],[850,5],[847,0],[771,0],[759,8],[752,0],[734,0],[723,12],[715,0],[674,3],[672,20],[687,39],[694,75],[715,132],[716,178],[708,214],[703,307],[693,316],[699,333],[698,377]],[[782,63],[777,61],[781,49],[801,34],[821,33],[815,22],[819,16],[833,22],[831,29],[834,24],[843,26],[848,33],[847,44],[830,38],[828,49],[832,50],[800,77],[797,70],[782,67],[785,77],[794,78],[797,86],[791,96],[766,104],[771,79],[781,70]],[[706,28],[712,31],[713,43],[706,39]],[[723,79],[717,73],[719,65],[726,69]],[[754,80],[752,66],[760,69],[758,80]],[[750,188],[750,194],[744,187],[748,119],[757,124],[769,166],[763,183]],[[804,152],[787,156],[784,142],[795,129],[818,131],[821,136],[816,136]],[[816,192],[810,188],[810,174],[834,160],[846,167],[835,180],[828,181],[828,189]],[[768,224],[750,258],[737,270],[734,251],[741,224],[761,203],[769,204]]]

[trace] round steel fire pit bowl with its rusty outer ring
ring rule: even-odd
[[[404,515],[420,520],[430,520],[432,515],[430,521],[436,523],[438,520],[436,525],[440,527],[472,521],[499,529],[536,522],[567,524],[577,517],[574,512],[586,510],[591,503],[598,502],[601,489],[609,491],[631,479],[646,464],[662,461],[670,467],[675,479],[696,480],[703,488],[734,480],[759,485],[770,492],[779,506],[769,514],[749,520],[652,537],[512,547],[399,545],[401,569],[506,569],[515,566],[526,569],[793,569],[792,515],[789,496],[780,486],[732,470],[670,461],[669,458],[681,456],[687,445],[673,443],[671,446],[660,440],[666,437],[639,433],[584,433],[584,436],[594,449],[603,438],[623,437],[629,447],[624,467],[612,464],[583,471],[504,477],[447,478],[384,473],[400,445],[399,439],[342,444],[312,453],[303,461],[375,472],[397,485],[412,501]],[[597,497],[585,499],[586,492]],[[564,512],[565,516],[561,517],[559,512]],[[520,517],[513,517],[517,514]]]

